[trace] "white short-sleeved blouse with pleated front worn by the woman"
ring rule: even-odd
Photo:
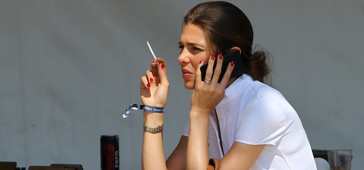
[[[243,74],[225,89],[224,99],[210,114],[209,149],[221,159],[234,142],[265,148],[250,170],[316,170],[310,142],[294,108],[279,91]],[[189,118],[183,136],[188,136]]]

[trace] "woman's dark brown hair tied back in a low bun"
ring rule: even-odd
[[[187,13],[183,24],[202,28],[207,42],[216,47],[212,50],[216,51],[214,53],[225,53],[232,47],[239,47],[247,73],[254,80],[270,81],[268,53],[252,51],[253,29],[248,17],[235,5],[224,1],[200,3]]]

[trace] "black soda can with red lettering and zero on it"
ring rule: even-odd
[[[119,170],[119,137],[101,135],[100,148],[101,170]]]

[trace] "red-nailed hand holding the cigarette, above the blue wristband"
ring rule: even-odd
[[[168,97],[169,83],[166,75],[165,61],[157,57],[150,64],[151,70],[146,71],[140,81],[140,100],[144,105],[164,107]]]

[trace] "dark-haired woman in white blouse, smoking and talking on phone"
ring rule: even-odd
[[[193,89],[189,120],[179,144],[165,161],[163,114],[144,111],[144,170],[206,170],[208,147],[220,170],[315,170],[310,143],[296,111],[280,92],[265,85],[266,53],[252,53],[253,31],[245,14],[228,2],[198,4],[183,20],[179,42],[184,86]],[[238,50],[246,73],[220,83],[223,53]],[[217,64],[214,75],[214,59]],[[141,78],[144,105],[164,107],[168,80],[160,57]],[[208,63],[205,81],[200,67]],[[149,132],[148,132],[149,131]],[[150,132],[151,131],[151,132]],[[157,131],[157,132],[156,132]]]

